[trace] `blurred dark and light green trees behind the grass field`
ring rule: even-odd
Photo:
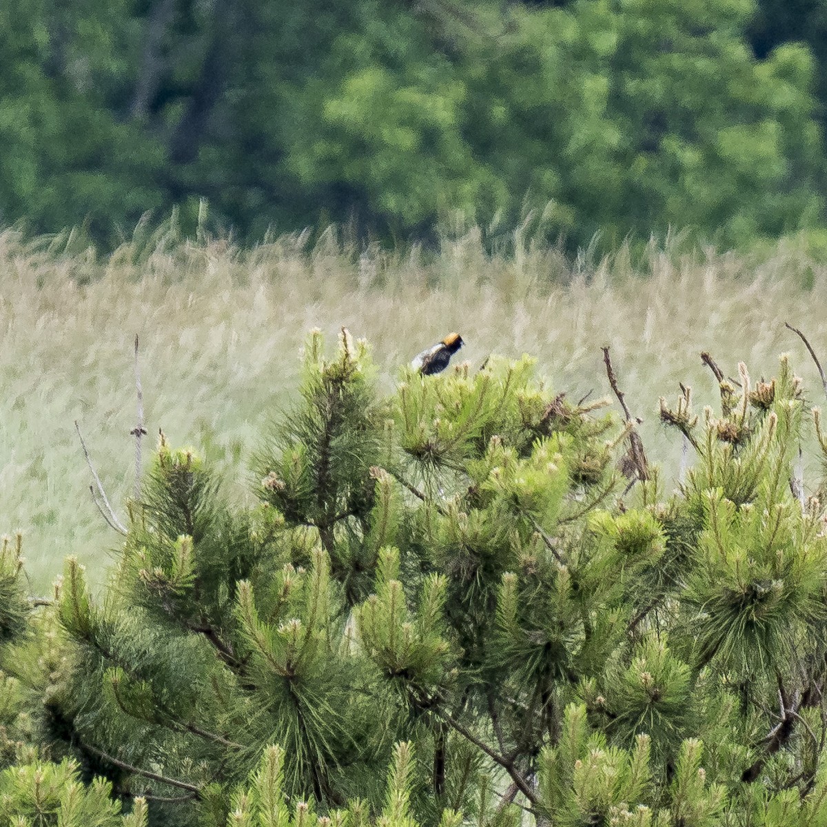
[[[0,222],[824,225],[827,0],[5,0]]]

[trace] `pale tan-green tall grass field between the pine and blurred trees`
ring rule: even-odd
[[[150,444],[163,428],[218,463],[243,496],[246,462],[267,423],[291,404],[308,329],[331,340],[348,327],[372,344],[387,389],[418,350],[451,330],[471,365],[490,352],[538,359],[555,390],[609,393],[600,346],[611,347],[651,457],[674,479],[679,445],[657,423],[657,399],[683,380],[715,402],[700,364],[709,350],[735,374],[770,375],[782,351],[822,401],[801,327],[827,361],[827,267],[791,244],[754,261],[734,254],[651,251],[633,266],[620,251],[568,261],[520,246],[486,256],[476,232],[437,253],[362,252],[332,232],[308,246],[282,237],[251,250],[163,235],[101,259],[72,238],[26,243],[0,233],[0,528],[24,534],[35,591],[77,555],[100,584],[119,537],[88,492],[78,420],[108,494],[123,514],[133,484],[141,371]]]

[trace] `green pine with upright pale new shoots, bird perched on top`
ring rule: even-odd
[[[258,504],[162,438],[103,598],[70,558],[7,643],[27,772],[72,758],[152,825],[825,821],[827,538],[793,465],[827,438],[786,359],[718,371],[717,414],[662,401],[696,452],[672,495],[528,358],[387,397],[346,331],[305,360]]]

